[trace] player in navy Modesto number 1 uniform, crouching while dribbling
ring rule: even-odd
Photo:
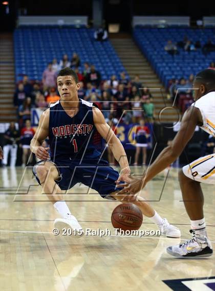
[[[80,84],[75,72],[70,68],[62,69],[58,73],[57,86],[60,100],[44,111],[31,141],[32,152],[41,160],[33,167],[33,173],[62,217],[55,219],[54,226],[59,230],[70,228],[81,235],[82,228],[63,200],[61,190],[82,183],[98,191],[103,198],[125,203],[128,196],[117,195],[115,182],[130,181],[131,171],[124,148],[101,111],[93,103],[78,98]],[[92,138],[96,130],[119,162],[120,175],[95,149]],[[49,148],[41,146],[48,136],[51,156]],[[162,219],[143,198],[138,197],[134,204],[159,226],[163,235],[180,237],[180,230]]]

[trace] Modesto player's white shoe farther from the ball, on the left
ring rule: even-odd
[[[84,235],[82,227],[73,215],[68,215],[65,218],[56,218],[54,228],[59,230],[59,234],[71,235],[76,238]]]

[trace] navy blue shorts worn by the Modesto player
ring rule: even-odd
[[[58,172],[59,179],[55,182],[59,185],[61,190],[69,190],[75,184],[82,183],[94,190],[96,190],[102,198],[113,199],[111,193],[120,190],[116,188],[116,183],[119,173],[109,166],[107,161],[100,160],[55,160],[54,162],[48,160],[47,162],[53,163]],[[44,163],[40,161],[33,167],[33,174],[37,182],[40,181],[36,174],[36,167]],[[41,184],[40,184],[41,185]]]

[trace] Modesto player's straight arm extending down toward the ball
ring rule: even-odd
[[[127,156],[125,150],[120,142],[120,140],[116,137],[112,128],[106,123],[103,114],[101,111],[93,106],[93,119],[94,124],[100,135],[109,145],[111,151],[114,154],[115,159],[119,162],[121,167],[120,180],[119,181],[128,181],[128,176],[131,173]]]

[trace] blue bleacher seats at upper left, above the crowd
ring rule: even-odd
[[[63,54],[71,59],[76,52],[81,60],[94,64],[103,80],[125,71],[109,40],[95,41],[93,29],[87,28],[18,28],[14,31],[16,82],[23,74],[32,80],[41,80],[42,72],[53,58],[61,60]]]

